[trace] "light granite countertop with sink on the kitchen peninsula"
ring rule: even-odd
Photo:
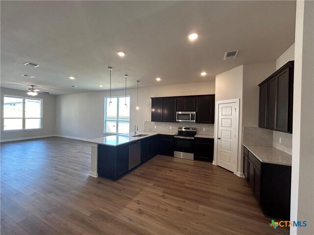
[[[134,132],[131,133],[126,133],[126,134],[119,134],[119,135],[112,135],[112,136],[105,136],[105,137],[100,137],[100,138],[95,138],[95,139],[87,139],[85,140],[86,142],[91,142],[91,143],[97,143],[97,144],[104,144],[104,145],[110,145],[110,146],[118,146],[124,143],[129,143],[132,141],[138,141],[142,140],[147,137],[155,136],[158,134],[162,135],[174,135],[175,133],[170,133],[170,132],[149,132],[149,131],[139,131],[136,132],[136,135],[144,134],[147,136],[144,137],[132,137],[134,135]]]

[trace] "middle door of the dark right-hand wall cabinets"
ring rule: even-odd
[[[275,130],[278,78],[268,81],[267,129]]]

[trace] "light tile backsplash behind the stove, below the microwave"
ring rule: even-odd
[[[193,123],[193,122],[180,122],[179,123],[179,122],[144,121],[144,131],[177,133],[179,126],[196,127],[197,128],[196,133],[198,135],[212,136],[214,134],[214,124],[202,124],[202,123]],[[205,128],[205,131],[203,131],[203,128]]]

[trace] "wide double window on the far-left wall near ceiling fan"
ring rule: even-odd
[[[41,110],[41,99],[4,95],[3,130],[40,129]]]

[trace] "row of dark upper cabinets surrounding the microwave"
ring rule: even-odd
[[[175,122],[177,111],[195,111],[197,123],[214,123],[215,95],[154,97],[151,121]]]

